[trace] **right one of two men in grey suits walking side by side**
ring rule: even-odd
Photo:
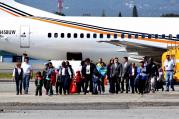
[[[126,82],[126,93],[128,93],[129,73],[130,73],[130,63],[128,62],[128,57],[124,57],[122,80],[121,80],[121,93],[123,93],[124,91],[124,82]]]

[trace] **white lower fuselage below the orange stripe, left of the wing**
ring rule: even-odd
[[[93,60],[103,56],[109,59],[121,55],[117,52],[120,49],[118,46],[99,43],[99,38],[86,38],[86,34],[92,36],[93,32],[31,18],[4,17],[0,22],[3,23],[0,26],[0,48],[18,55],[26,53],[46,60],[66,60],[67,53],[81,53],[83,58],[91,57]],[[61,34],[64,34],[63,38]],[[71,34],[71,37],[67,34]],[[77,34],[77,38],[74,38],[74,34]]]

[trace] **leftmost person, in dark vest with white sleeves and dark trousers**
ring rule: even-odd
[[[16,63],[16,68],[13,70],[13,79],[16,82],[16,95],[22,95],[22,80],[23,80],[23,69],[21,68],[21,63]]]

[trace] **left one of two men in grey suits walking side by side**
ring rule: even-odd
[[[114,64],[111,69],[112,73],[112,93],[118,94],[120,89],[121,77],[122,77],[122,64],[119,63],[119,59],[114,59]]]

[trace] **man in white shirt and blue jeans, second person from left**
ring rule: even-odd
[[[29,64],[29,58],[28,57],[25,57],[24,62],[21,65],[21,68],[24,71],[24,74],[23,74],[24,94],[28,94],[29,81],[33,76],[32,66]]]

